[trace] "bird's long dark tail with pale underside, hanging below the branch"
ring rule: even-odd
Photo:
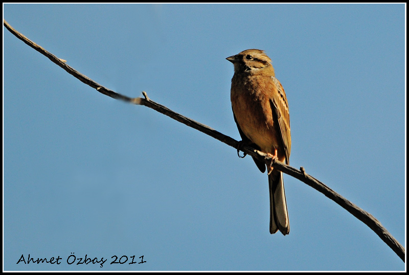
[[[270,233],[274,234],[280,230],[283,235],[287,235],[290,233],[290,221],[285,200],[283,173],[272,171],[268,175],[268,187],[270,190]]]

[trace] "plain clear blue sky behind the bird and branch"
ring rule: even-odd
[[[236,140],[225,58],[265,50],[288,98],[291,166],[406,246],[404,4],[3,7],[101,85],[145,90]],[[405,270],[365,224],[287,175],[291,231],[270,235],[267,175],[251,157],[106,97],[3,33],[5,270]],[[62,260],[16,264],[28,254]]]

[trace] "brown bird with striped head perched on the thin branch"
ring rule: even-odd
[[[226,59],[234,65],[230,97],[234,121],[242,139],[237,151],[240,146],[248,145],[288,165],[291,152],[288,102],[271,59],[257,49],[245,50]],[[283,173],[253,159],[262,173],[267,168],[270,234],[280,231],[287,235],[290,223]]]

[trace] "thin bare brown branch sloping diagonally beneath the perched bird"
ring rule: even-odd
[[[190,118],[187,118],[185,116],[182,116],[179,113],[176,113],[172,111],[171,109],[158,104],[152,100],[150,100],[145,93],[145,91],[142,92],[144,95],[144,98],[130,98],[127,96],[123,96],[121,94],[116,93],[113,90],[107,89],[104,86],[98,84],[94,80],[86,77],[85,75],[77,72],[72,68],[71,66],[65,64],[65,60],[62,60],[55,55],[51,54],[50,52],[44,50],[42,47],[28,39],[26,36],[20,34],[16,30],[14,30],[6,20],[4,20],[3,25],[12,33],[14,34],[18,39],[22,40],[26,44],[28,44],[31,48],[36,50],[37,52],[41,53],[42,55],[45,55],[48,57],[52,62],[63,68],[67,73],[73,75],[75,78],[79,79],[80,81],[84,82],[85,84],[97,89],[101,94],[104,94],[108,97],[111,97],[113,99],[119,99],[128,103],[132,104],[137,104],[137,105],[144,105],[146,107],[149,107],[151,109],[154,109],[160,113],[165,114],[166,116],[180,122],[183,124],[186,124],[189,127],[192,127],[196,130],[199,130],[205,134],[208,134],[212,137],[214,137],[216,140],[219,140],[229,146],[232,146],[233,148],[237,148],[239,145],[239,142],[232,139],[230,136],[224,135],[209,126],[206,126],[204,124],[201,124],[199,122],[196,122]],[[254,148],[248,147],[248,146],[243,146],[240,148],[244,153],[251,155],[253,157],[256,157],[260,161],[265,162],[266,164],[271,164],[271,157],[267,156],[263,152],[260,152],[258,150],[255,150]],[[350,202],[343,196],[339,195],[329,187],[327,187],[325,184],[323,184],[321,181],[313,178],[312,176],[308,175],[304,168],[301,167],[300,170],[290,167],[288,165],[285,165],[281,162],[276,162],[275,160],[272,161],[272,167],[275,169],[282,171],[283,173],[286,173],[294,178],[297,178],[307,184],[308,186],[314,188],[315,190],[323,193],[325,196],[328,198],[332,199],[336,203],[338,203],[341,207],[346,209],[349,213],[354,215],[357,219],[368,225],[371,230],[373,230],[379,238],[384,241],[389,247],[392,248],[393,251],[398,255],[400,259],[402,259],[403,262],[405,262],[405,249],[403,246],[382,226],[382,224],[371,214],[368,212],[360,209],[357,207],[354,203]]]

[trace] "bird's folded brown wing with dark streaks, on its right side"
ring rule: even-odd
[[[277,87],[277,93],[270,99],[270,105],[274,122],[278,122],[281,141],[285,150],[286,164],[290,162],[291,153],[291,132],[290,132],[290,113],[288,112],[287,97],[284,88],[277,78],[271,77]]]

